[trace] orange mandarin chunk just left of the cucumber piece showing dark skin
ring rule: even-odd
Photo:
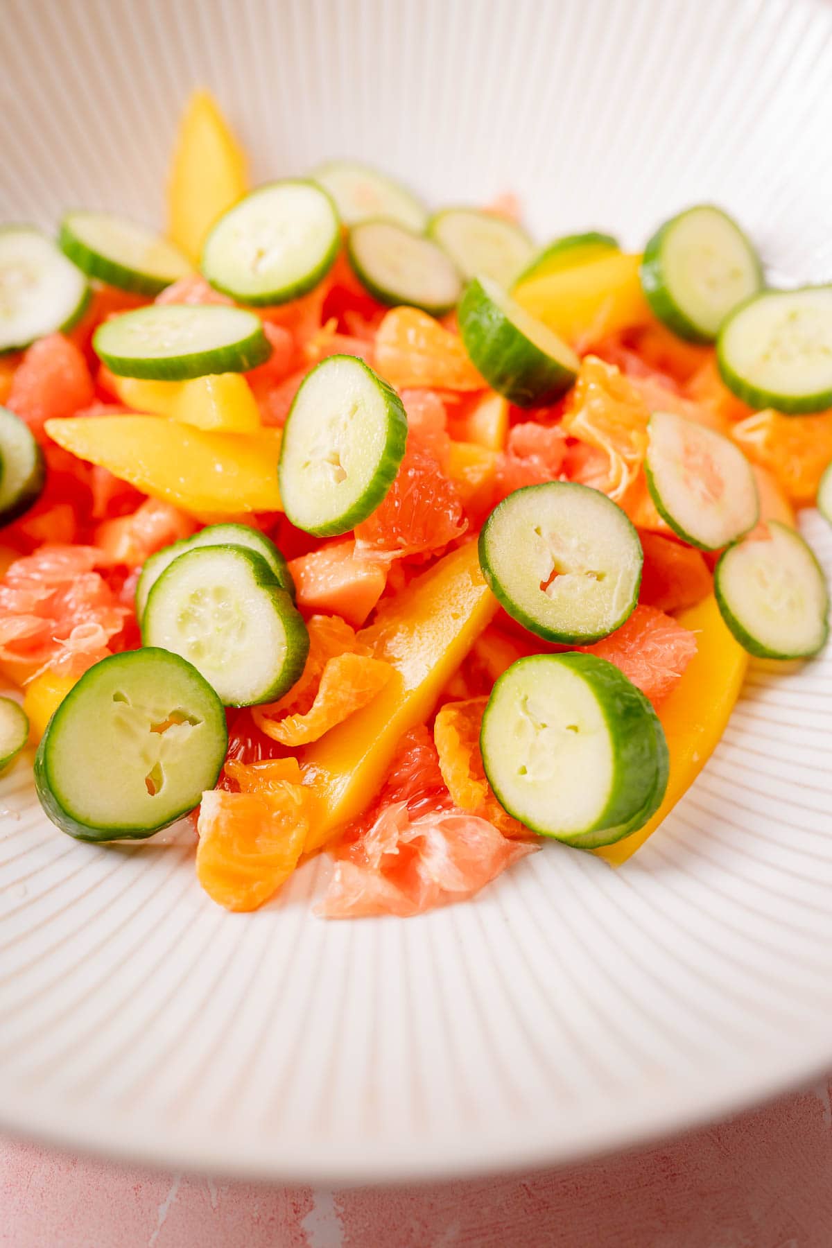
[[[450,391],[484,389],[462,338],[418,308],[390,308],[375,334],[375,363],[382,377],[402,387]]]

